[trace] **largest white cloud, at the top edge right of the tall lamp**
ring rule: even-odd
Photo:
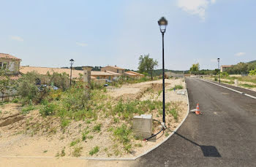
[[[191,15],[199,15],[205,20],[208,5],[215,2],[216,0],[178,0],[178,7]]]

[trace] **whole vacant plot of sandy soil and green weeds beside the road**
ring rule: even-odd
[[[162,120],[162,81],[140,82],[91,90],[79,85],[54,90],[42,103],[0,106],[0,155],[56,157],[133,157],[154,147],[174,130],[187,113],[182,79],[166,79],[168,130],[145,142],[132,134],[132,117],[152,114]],[[161,127],[154,122],[154,133]]]

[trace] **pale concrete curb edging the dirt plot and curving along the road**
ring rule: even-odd
[[[184,123],[184,121],[187,119],[187,116],[189,115],[189,96],[187,93],[187,89],[186,89],[186,94],[187,94],[187,115],[186,117],[184,117],[184,119],[181,121],[181,123],[178,125],[178,127],[172,132],[170,133],[169,136],[167,136],[167,138],[165,138],[163,141],[161,141],[159,144],[157,144],[155,147],[148,149],[146,152],[144,152],[141,155],[138,155],[135,158],[87,158],[87,157],[80,157],[80,158],[64,158],[64,159],[82,159],[82,160],[136,160],[140,157],[142,157],[143,155],[148,154],[148,152],[151,152],[153,149],[156,149],[157,147],[159,147],[161,144],[163,144],[165,141],[167,141],[167,139],[169,139],[171,136],[173,136],[173,133],[175,133],[176,131],[178,131],[178,128],[181,127],[181,125]],[[1,156],[1,158],[56,158],[56,157],[40,157],[40,156]]]

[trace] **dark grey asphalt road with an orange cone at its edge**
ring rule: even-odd
[[[256,166],[256,100],[199,79],[187,78],[190,109],[173,136],[138,166]]]

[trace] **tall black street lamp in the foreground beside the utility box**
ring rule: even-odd
[[[158,21],[160,31],[162,33],[162,122],[165,124],[165,55],[164,55],[164,35],[168,22],[162,17]]]

